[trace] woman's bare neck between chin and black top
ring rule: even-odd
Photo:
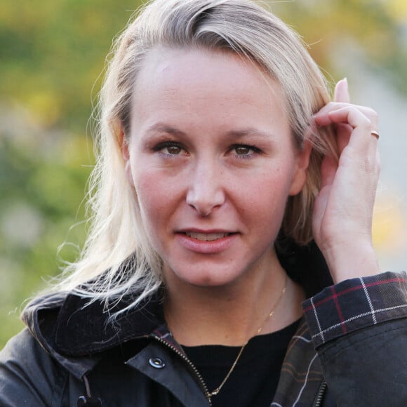
[[[171,282],[167,283],[164,312],[182,345],[241,346],[257,335],[260,327],[262,334],[278,331],[302,314],[302,290],[287,278],[278,261],[255,278],[242,277],[227,286]]]

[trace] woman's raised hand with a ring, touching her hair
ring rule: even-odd
[[[347,80],[335,87],[335,102],[314,115],[316,126],[334,124],[338,163],[329,156],[321,166],[321,191],[313,215],[314,239],[333,280],[377,274],[372,218],[380,173],[378,116],[368,107],[351,105]]]

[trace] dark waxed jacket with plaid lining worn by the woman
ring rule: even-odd
[[[34,301],[0,355],[0,406],[210,406],[159,298],[114,324],[74,294]],[[407,406],[406,273],[342,281],[303,309],[270,406]]]

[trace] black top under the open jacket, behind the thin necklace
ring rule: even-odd
[[[288,342],[297,327],[298,321],[281,331],[251,338],[229,379],[219,394],[212,397],[213,407],[269,407],[279,382]],[[222,345],[183,348],[210,392],[225,379],[241,349]]]

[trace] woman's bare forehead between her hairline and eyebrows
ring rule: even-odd
[[[133,123],[155,114],[161,121],[163,115],[185,121],[188,112],[191,120],[198,115],[206,121],[286,119],[283,100],[279,84],[240,55],[155,48],[135,80],[131,118]]]

